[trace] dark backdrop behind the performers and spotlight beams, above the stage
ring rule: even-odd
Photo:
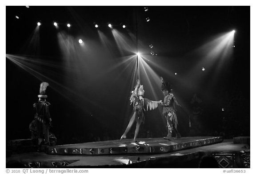
[[[226,138],[250,135],[250,7],[149,6],[148,9],[144,12],[143,6],[7,6],[6,54],[33,59],[26,65],[41,75],[37,78],[32,71],[28,73],[6,59],[6,139],[30,137],[28,125],[35,114],[33,103],[38,100],[41,81],[50,84],[46,93],[52,104],[51,131],[58,144],[119,139],[132,112],[128,98],[136,82],[132,81],[130,67],[110,70],[125,56],[136,53],[136,24],[138,50],[150,59],[148,65],[159,77],[171,81],[182,105],[177,111],[182,136],[195,135],[189,128],[193,109],[190,101],[194,93],[203,101],[198,123],[201,126],[196,135]],[[146,22],[146,17],[151,20]],[[42,25],[38,34],[40,41],[35,46],[29,43],[38,21]],[[85,53],[76,51],[78,42],[72,43],[75,49],[69,54],[70,64],[60,49],[52,21],[60,23],[59,30],[76,40],[81,37],[86,43]],[[72,24],[70,29],[65,26],[67,22]],[[96,29],[94,22],[100,27]],[[129,38],[133,53],[117,49],[107,23],[112,23],[113,28]],[[122,29],[121,23],[128,27]],[[193,68],[204,59],[202,53],[195,50],[233,29],[236,47],[232,56],[217,69],[209,61],[204,66],[204,75],[200,69],[195,73]],[[107,37],[107,47],[100,42],[98,30]],[[157,56],[150,55],[150,44]],[[174,72],[178,72],[178,76],[174,76]],[[143,74],[140,78],[145,97],[163,100],[160,84],[153,84],[155,98],[147,78]],[[160,113],[161,108],[147,112],[139,138],[161,137],[167,133]]]

